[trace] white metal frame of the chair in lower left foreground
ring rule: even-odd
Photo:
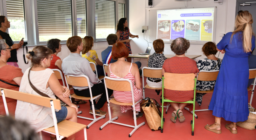
[[[5,110],[6,110],[6,116],[9,116],[9,110],[8,110],[7,103],[6,103],[6,97],[5,97],[5,94],[4,94],[4,90],[1,90],[1,93],[2,93],[2,97],[3,97],[4,108],[5,108]],[[47,133],[49,133],[49,134],[54,134],[54,135],[56,135],[56,139],[57,139],[57,140],[61,140],[61,139],[64,138],[64,136],[61,136],[61,135],[59,135],[59,133],[58,133],[57,118],[56,118],[56,115],[55,115],[55,108],[54,108],[54,104],[53,104],[53,101],[52,101],[52,100],[50,101],[50,104],[51,104],[52,120],[53,120],[53,123],[54,123],[55,133],[48,132],[48,131],[45,131],[45,130],[42,130],[42,131],[43,131],[43,132],[47,132]],[[42,131],[39,132],[40,140],[43,140]],[[38,133],[38,132],[37,132],[37,133]],[[87,134],[86,134],[86,129],[85,129],[85,128],[84,128],[84,140],[87,140]]]

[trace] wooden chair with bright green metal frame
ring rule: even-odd
[[[193,104],[193,120],[191,120],[192,124],[192,136],[194,136],[194,117],[195,117],[195,94],[196,94],[196,76],[194,73],[189,74],[177,74],[177,73],[164,73],[162,77],[163,86],[162,86],[162,106],[164,102],[173,102],[173,103],[188,103]],[[179,91],[187,91],[194,90],[194,99],[192,101],[185,102],[175,102],[168,99],[163,98],[163,90],[179,90]],[[161,117],[161,133],[163,133],[163,107],[162,107],[162,117]]]

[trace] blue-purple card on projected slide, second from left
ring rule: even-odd
[[[178,37],[185,38],[185,20],[172,20],[172,36],[171,39]]]

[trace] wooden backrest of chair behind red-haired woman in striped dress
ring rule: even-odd
[[[106,87],[116,91],[131,91],[131,81],[125,78],[104,77]]]

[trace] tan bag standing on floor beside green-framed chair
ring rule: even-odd
[[[145,118],[148,126],[152,131],[161,129],[161,112],[159,110],[160,105],[155,99],[145,98],[144,104],[141,104],[144,111]],[[155,103],[154,103],[155,101]]]

